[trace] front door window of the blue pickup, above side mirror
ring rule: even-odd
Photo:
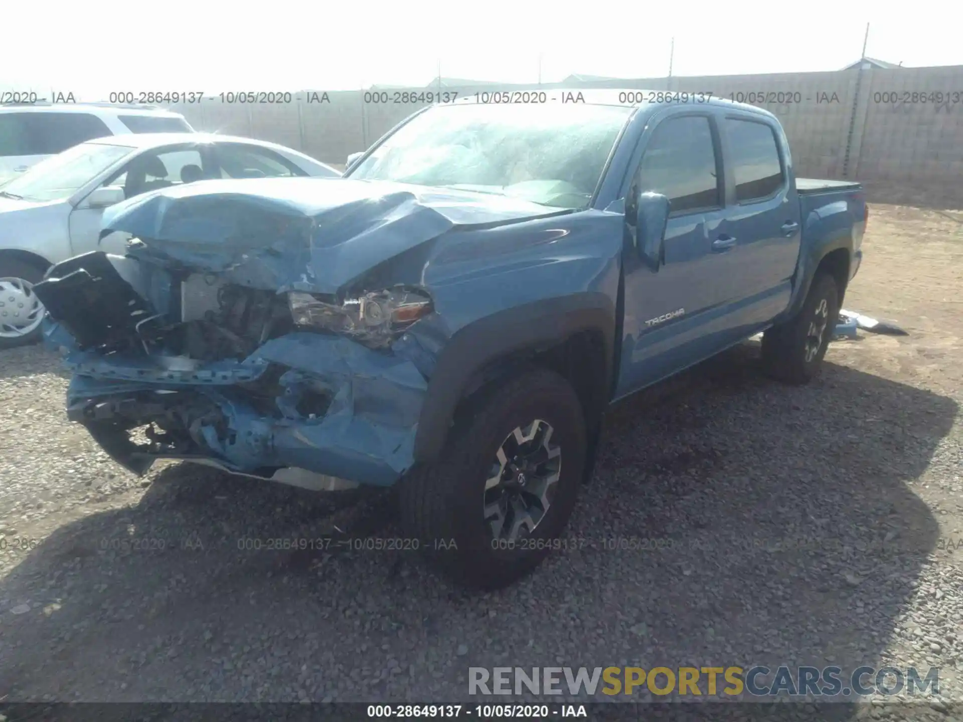
[[[672,214],[720,205],[716,146],[709,118],[664,120],[649,139],[639,168],[641,190],[662,193]]]

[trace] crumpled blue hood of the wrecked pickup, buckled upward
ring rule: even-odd
[[[359,275],[455,226],[567,213],[501,195],[341,178],[200,181],[131,198],[108,232],[169,259],[277,292],[337,294]]]

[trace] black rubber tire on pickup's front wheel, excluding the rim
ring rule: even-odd
[[[484,520],[485,478],[516,427],[544,420],[560,447],[555,497],[524,544],[500,545]],[[415,468],[400,489],[405,533],[456,582],[497,589],[529,574],[571,516],[586,464],[582,404],[559,374],[534,369],[496,380],[466,400],[433,464]]]

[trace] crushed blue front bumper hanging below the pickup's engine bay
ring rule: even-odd
[[[258,476],[295,467],[390,485],[413,463],[425,378],[410,361],[349,339],[292,333],[241,362],[187,369],[176,359],[89,356],[67,354],[68,418],[138,474],[157,458],[209,457]],[[239,388],[269,374],[270,387]],[[139,443],[148,424],[163,430],[148,428]]]

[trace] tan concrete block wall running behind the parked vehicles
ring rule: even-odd
[[[444,90],[458,90],[464,96],[476,90],[534,87]],[[541,86],[546,90],[560,87]],[[638,78],[584,81],[566,87],[711,91],[766,108],[783,123],[796,172],[802,176],[940,182],[963,178],[963,65]],[[340,164],[424,106],[391,102],[396,90],[404,89],[384,90],[388,102],[374,102],[371,95],[365,102],[363,90],[328,92],[327,102],[308,102],[309,91],[301,91],[288,104],[224,104],[220,98],[205,98],[199,104],[173,106],[173,110],[183,113],[198,130],[279,142]],[[373,91],[379,90],[368,92]],[[320,96],[322,91],[317,92]],[[925,101],[919,95],[904,98],[905,93],[914,92],[923,93]],[[929,93],[935,92],[946,96],[942,104],[930,102]]]

